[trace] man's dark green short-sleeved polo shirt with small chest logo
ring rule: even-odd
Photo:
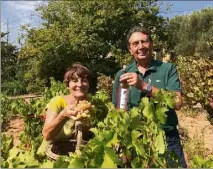
[[[148,79],[150,79],[151,85],[157,88],[166,89],[168,91],[182,91],[176,66],[172,63],[164,63],[161,61],[152,60],[151,65],[143,75],[139,72],[136,61],[133,61],[130,65],[127,66],[126,71],[137,73],[146,83],[148,83]],[[116,99],[116,90],[121,74],[122,70],[116,74],[115,82],[113,84],[112,102],[114,104]],[[145,97],[145,95],[146,94],[141,90],[134,86],[130,86],[128,109],[138,106],[141,98]],[[178,118],[174,110],[167,112],[167,115],[167,122],[165,125],[163,125],[165,131],[176,128],[178,124]]]

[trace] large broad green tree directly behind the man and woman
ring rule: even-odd
[[[133,25],[149,28],[156,40],[166,39],[155,2],[49,1],[40,6],[36,11],[45,21],[43,27],[23,27],[25,43],[19,56],[27,58],[29,82],[46,83],[51,76],[62,80],[73,62],[84,63],[95,76],[114,75],[120,64],[129,61],[125,37]]]

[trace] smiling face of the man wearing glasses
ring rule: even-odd
[[[152,57],[152,47],[152,42],[142,32],[134,32],[129,38],[129,52],[136,61],[150,59]]]

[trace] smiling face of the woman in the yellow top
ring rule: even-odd
[[[84,98],[89,90],[89,81],[87,78],[75,77],[69,82],[70,93],[78,99]]]

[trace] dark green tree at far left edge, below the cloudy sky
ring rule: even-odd
[[[8,95],[24,94],[23,61],[18,58],[17,46],[3,40],[7,34],[1,32],[1,89]]]

